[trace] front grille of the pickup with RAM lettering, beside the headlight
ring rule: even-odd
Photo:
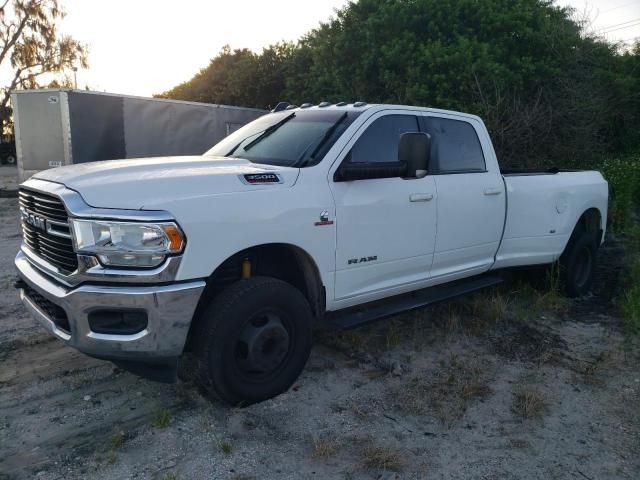
[[[69,274],[78,268],[73,250],[67,210],[52,195],[21,188],[22,236],[27,247],[37,256]]]

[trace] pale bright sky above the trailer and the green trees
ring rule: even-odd
[[[61,31],[89,47],[79,88],[150,96],[190,79],[220,49],[295,41],[347,0],[61,0]],[[640,39],[640,0],[556,0],[611,41]]]

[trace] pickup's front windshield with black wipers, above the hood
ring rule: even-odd
[[[270,113],[224,138],[205,155],[287,167],[316,165],[358,115],[359,111],[346,110]]]

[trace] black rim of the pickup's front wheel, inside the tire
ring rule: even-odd
[[[281,312],[267,309],[252,315],[233,347],[236,372],[256,382],[273,378],[291,355],[293,335],[292,323]]]

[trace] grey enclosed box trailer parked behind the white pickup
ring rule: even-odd
[[[62,165],[200,155],[267,113],[69,89],[19,90],[11,105],[20,181]]]

